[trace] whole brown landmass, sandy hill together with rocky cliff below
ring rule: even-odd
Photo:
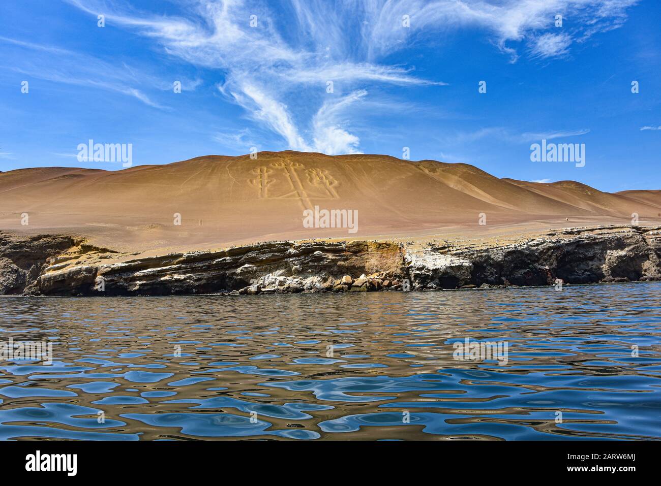
[[[661,191],[258,153],[0,173],[0,294],[454,289],[661,278]],[[358,212],[356,232],[303,211]],[[22,223],[27,223],[26,225]],[[178,224],[180,223],[180,224]]]

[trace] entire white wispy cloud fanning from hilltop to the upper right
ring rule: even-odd
[[[350,116],[342,114],[362,104],[367,90],[378,93],[372,85],[446,84],[387,63],[403,48],[474,28],[512,61],[522,49],[534,58],[559,57],[574,42],[620,26],[627,8],[638,2],[289,0],[278,5],[286,13],[283,19],[272,15],[275,7],[268,1],[258,0],[195,0],[180,16],[140,12],[124,3],[66,1],[95,17],[104,13],[106,24],[152,39],[168,55],[216,69],[223,96],[277,133],[288,148],[326,153],[360,150],[358,135],[348,127]],[[555,15],[571,22],[559,30]],[[333,81],[334,92],[326,92],[327,81]]]

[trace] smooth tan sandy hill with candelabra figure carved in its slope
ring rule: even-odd
[[[303,210],[357,209],[358,232],[304,228]],[[22,213],[29,225],[21,226]],[[182,218],[174,225],[174,215]],[[499,179],[467,164],[292,151],[203,156],[114,172],[0,173],[0,228],[58,228],[108,246],[161,248],[271,239],[432,234],[526,221],[661,217],[661,191],[605,193],[572,181]]]

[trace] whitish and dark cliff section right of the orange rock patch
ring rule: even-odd
[[[503,246],[432,246],[407,268],[414,289],[658,280],[660,229],[568,228]]]

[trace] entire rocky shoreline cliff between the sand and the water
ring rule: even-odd
[[[266,242],[133,258],[71,236],[0,234],[0,294],[430,290],[661,279],[661,227],[552,230],[509,244]]]

